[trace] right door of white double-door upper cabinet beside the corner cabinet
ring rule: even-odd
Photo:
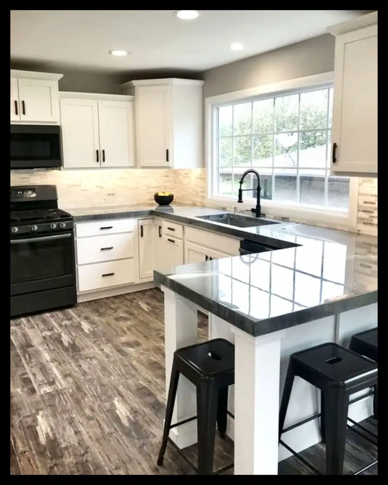
[[[130,167],[133,156],[133,103],[98,101],[102,167]]]

